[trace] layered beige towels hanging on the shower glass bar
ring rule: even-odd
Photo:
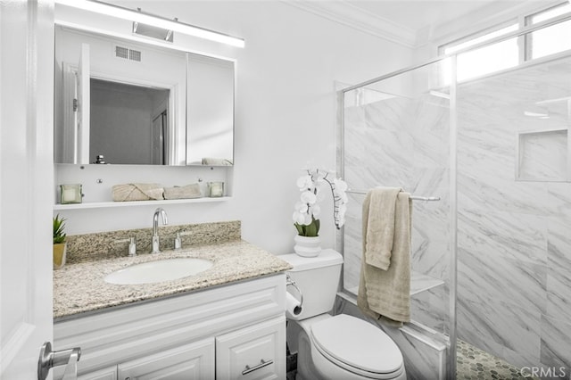
[[[411,213],[410,194],[401,189],[377,187],[363,202],[357,305],[368,316],[396,326],[410,321]],[[392,235],[388,231],[393,231]]]

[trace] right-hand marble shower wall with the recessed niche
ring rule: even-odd
[[[569,147],[546,133],[517,152],[517,139],[569,127],[567,101],[550,100],[571,94],[570,72],[571,60],[559,59],[458,89],[459,338],[518,367],[564,366],[567,376],[571,183],[553,181],[566,180]],[[535,180],[517,180],[517,165]]]

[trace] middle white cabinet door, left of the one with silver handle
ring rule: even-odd
[[[119,380],[214,379],[214,338],[121,363],[117,373]]]

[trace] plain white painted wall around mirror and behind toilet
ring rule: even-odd
[[[235,58],[236,166],[229,202],[167,206],[171,224],[242,220],[245,240],[275,253],[291,252],[295,179],[311,166],[335,169],[335,81],[354,84],[411,64],[411,51],[278,1],[114,2],[207,29],[244,37],[244,49],[179,34],[178,44]],[[61,9],[56,9],[56,14]],[[74,22],[79,22],[77,17]],[[97,22],[95,17],[90,22]],[[104,22],[104,21],[103,21]],[[129,23],[125,25],[128,28]],[[108,24],[109,25],[109,24]],[[120,25],[115,21],[113,25]],[[147,178],[195,181],[221,169],[59,166],[62,178],[89,188]],[[223,173],[221,175],[224,175]],[[95,185],[96,178],[103,185]],[[107,181],[107,182],[105,182]],[[94,190],[95,191],[95,190]],[[324,205],[325,206],[325,205]],[[150,227],[153,207],[61,212],[70,234]],[[324,246],[333,246],[333,218],[322,220]]]

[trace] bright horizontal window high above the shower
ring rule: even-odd
[[[571,4],[566,1],[542,12],[527,15],[521,20],[525,21],[525,25],[533,25],[569,12],[571,12]],[[515,32],[523,27],[523,23],[520,22],[501,25],[495,29],[486,30],[477,37],[466,37],[443,45],[440,50],[444,54],[454,54],[470,46],[482,44],[495,37]],[[571,20],[534,31],[527,37],[513,37],[492,45],[484,45],[483,47],[460,53],[457,61],[457,79],[461,82],[495,71],[516,67],[521,62],[520,57],[525,57],[525,60],[532,60],[569,50],[571,49],[571,38],[569,36],[571,36]],[[518,44],[520,39],[524,40],[521,46]],[[520,54],[520,48],[525,49],[525,55]]]

